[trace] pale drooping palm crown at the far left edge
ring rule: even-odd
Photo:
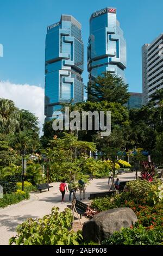
[[[2,133],[14,133],[19,126],[20,113],[12,100],[0,99],[0,127]]]

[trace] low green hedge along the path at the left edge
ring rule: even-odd
[[[18,190],[12,194],[4,194],[3,198],[0,199],[0,208],[4,208],[11,204],[17,204],[24,199],[29,199],[28,192]]]

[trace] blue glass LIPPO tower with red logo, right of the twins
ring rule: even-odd
[[[90,36],[88,45],[87,69],[90,80],[104,71],[124,78],[126,69],[126,40],[120,23],[117,21],[116,8],[95,11],[90,17]]]

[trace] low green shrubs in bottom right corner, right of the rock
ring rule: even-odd
[[[162,228],[147,230],[142,225],[116,231],[102,245],[163,245]]]

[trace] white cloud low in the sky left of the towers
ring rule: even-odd
[[[0,81],[0,98],[15,102],[16,107],[26,109],[39,118],[40,132],[44,123],[44,89],[29,84],[14,84]]]

